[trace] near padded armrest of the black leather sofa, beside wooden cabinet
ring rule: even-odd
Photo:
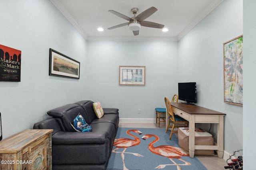
[[[105,143],[108,133],[99,132],[65,132],[58,131],[52,135],[52,144],[85,144],[85,143]]]

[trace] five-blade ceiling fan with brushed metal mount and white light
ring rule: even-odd
[[[134,16],[132,18],[130,18],[130,17],[120,14],[119,12],[116,12],[114,10],[109,10],[109,12],[111,12],[112,14],[114,14],[118,17],[121,17],[124,20],[127,20],[128,22],[122,23],[120,25],[116,25],[114,27],[110,27],[108,29],[114,29],[114,28],[128,25],[128,28],[130,30],[132,30],[134,35],[139,35],[139,30],[140,30],[141,26],[152,27],[152,28],[163,28],[164,25],[162,25],[162,24],[154,23],[154,22],[150,22],[150,21],[144,21],[146,18],[148,18],[149,16],[154,14],[156,11],[157,11],[157,9],[152,6],[151,8],[148,8],[147,10],[145,10],[144,12],[142,12],[138,16],[136,16],[136,14],[138,12],[138,8],[132,8],[131,12],[132,12],[132,14],[134,14]]]

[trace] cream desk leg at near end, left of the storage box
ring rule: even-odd
[[[190,158],[194,158],[195,154],[195,116],[189,115],[189,137],[188,149]]]

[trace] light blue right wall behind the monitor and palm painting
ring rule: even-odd
[[[242,106],[224,103],[223,43],[243,34],[242,16],[242,0],[224,0],[178,44],[178,81],[197,83],[197,105],[226,113],[224,150],[231,154],[243,148],[243,113]]]

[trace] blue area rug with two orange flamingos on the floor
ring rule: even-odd
[[[163,128],[119,127],[107,170],[207,170],[178,145],[178,137]]]

